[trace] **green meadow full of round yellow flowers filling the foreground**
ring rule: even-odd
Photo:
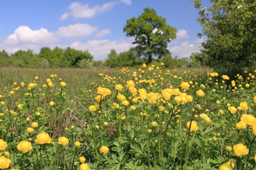
[[[256,167],[256,70],[51,72],[1,70],[0,169]]]

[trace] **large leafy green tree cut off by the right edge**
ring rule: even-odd
[[[234,77],[256,62],[256,1],[210,0],[211,7],[199,9],[198,21],[207,40],[203,42],[201,56],[207,66]]]

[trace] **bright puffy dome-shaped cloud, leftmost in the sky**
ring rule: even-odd
[[[9,35],[6,44],[47,44],[55,41],[53,33],[45,28],[39,30],[31,30],[28,26],[18,27],[13,34]]]

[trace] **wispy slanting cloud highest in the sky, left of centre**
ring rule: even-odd
[[[104,11],[110,10],[115,6],[115,2],[104,3],[104,5],[96,5],[94,7],[90,7],[87,3],[86,5],[82,5],[78,2],[73,2],[69,5],[69,12],[63,13],[61,15],[61,20],[66,19],[68,16],[72,17],[94,17],[98,13],[103,13]]]

